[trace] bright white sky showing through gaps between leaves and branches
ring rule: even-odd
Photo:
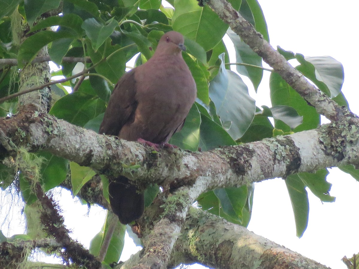
[[[359,114],[356,67],[358,2],[353,0],[259,0],[259,2],[267,21],[270,43],[274,48],[279,45],[285,50],[302,53],[304,56],[329,55],[343,64],[345,82],[342,91],[349,101],[350,109]],[[234,62],[234,51],[229,53],[232,56],[231,62]],[[257,106],[270,106],[268,73],[265,72],[257,94],[250,89],[251,95],[257,100]],[[251,83],[247,82],[247,85],[250,86]],[[341,258],[344,255],[349,258],[359,252],[356,244],[359,183],[338,169],[330,170],[327,181],[333,184],[330,194],[336,197],[336,202],[322,204],[308,190],[309,223],[302,238],[298,239],[295,236],[293,210],[285,183],[281,179],[256,183],[252,219],[248,229],[333,269],[345,269],[346,266]],[[10,213],[4,221],[5,207],[8,208],[10,202],[5,198],[4,192],[0,193],[1,230],[6,236],[23,233],[23,217],[18,217],[22,205],[11,202]],[[61,199],[60,205],[64,211],[65,224],[73,231],[72,236],[88,247],[90,240],[100,231],[106,211],[92,206],[87,214],[87,206],[81,206],[79,202],[68,202],[71,195],[64,190],[61,191],[62,198],[56,197]],[[9,220],[11,225],[8,225]],[[137,250],[138,247],[135,248],[131,240],[126,240],[121,260],[126,260]],[[42,260],[53,262],[53,259],[42,258]],[[197,268],[197,266],[192,268],[194,267]]]

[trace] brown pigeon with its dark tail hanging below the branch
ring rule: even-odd
[[[129,141],[168,142],[179,131],[196,98],[196,84],[182,58],[183,36],[165,33],[152,58],[117,82],[99,133]],[[141,217],[143,193],[124,176],[110,179],[112,211],[121,223]]]

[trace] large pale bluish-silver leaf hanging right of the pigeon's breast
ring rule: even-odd
[[[226,70],[224,53],[216,77],[209,84],[209,96],[216,106],[222,124],[228,124],[228,133],[234,140],[242,137],[254,118],[255,100],[248,94],[248,88],[236,73]]]

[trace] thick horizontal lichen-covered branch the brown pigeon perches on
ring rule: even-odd
[[[208,152],[163,149],[153,153],[140,143],[98,135],[30,111],[0,119],[0,147],[3,157],[16,155],[20,145],[30,151],[46,150],[99,173],[136,178],[140,188],[172,178],[170,189],[195,183],[203,192],[341,164],[358,165],[356,122],[352,118],[347,123]],[[140,167],[128,168],[134,164]]]

